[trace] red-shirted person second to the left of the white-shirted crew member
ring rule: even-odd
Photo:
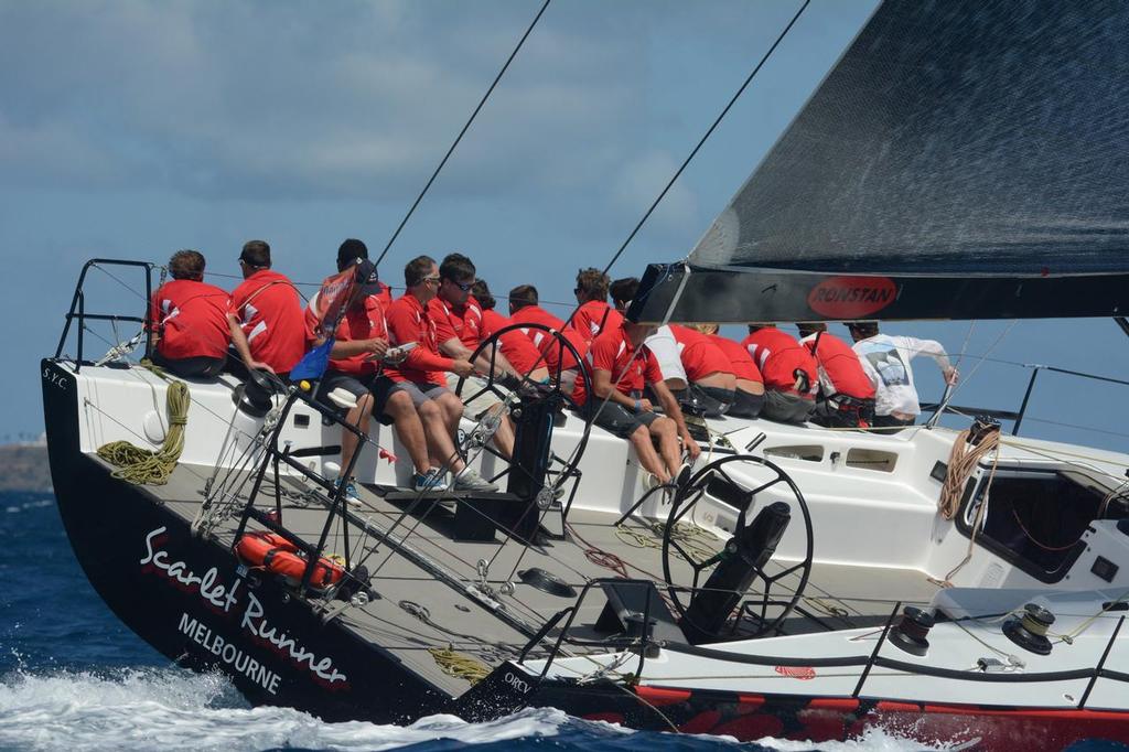
[[[807,348],[776,324],[750,324],[742,344],[764,378],[761,414],[786,423],[806,421],[819,387],[815,359]]]

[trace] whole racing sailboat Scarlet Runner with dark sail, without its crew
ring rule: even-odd
[[[1121,316],[1127,36],[1120,3],[887,0],[693,252],[647,269],[629,316]],[[331,480],[341,417],[303,385],[260,410],[235,374],[186,400],[86,357],[85,323],[145,320],[87,311],[86,272],[107,265],[154,286],[154,264],[89,262],[78,353],[64,330],[42,364],[60,511],[124,623],[253,702],[1129,742],[1129,455],[988,418],[890,435],[718,418],[695,427],[691,471],[655,486],[551,384],[499,392],[511,463],[491,418],[464,419],[462,449],[505,492],[402,491],[411,467],[379,458],[396,444],[375,426],[344,469],[353,506]],[[135,482],[99,454],[122,440],[178,454]]]

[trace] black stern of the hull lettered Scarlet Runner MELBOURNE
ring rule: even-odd
[[[42,365],[51,475],[71,546],[95,591],[178,665],[219,670],[255,705],[326,720],[405,723],[450,698],[387,652],[270,578],[245,579],[234,553],[80,452],[75,378]],[[259,579],[259,582],[252,582]]]

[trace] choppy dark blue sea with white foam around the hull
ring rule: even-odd
[[[632,732],[544,709],[484,724],[431,716],[410,726],[382,726],[329,724],[298,710],[253,708],[222,676],[172,666],[117,621],[75,560],[50,493],[0,493],[0,582],[2,750],[816,749],[773,738],[738,744],[717,736]],[[877,729],[819,749],[922,747]],[[1127,747],[1094,743],[1074,749]]]

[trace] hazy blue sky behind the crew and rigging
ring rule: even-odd
[[[345,237],[378,255],[540,5],[0,0],[0,441],[43,430],[37,364],[88,259],[196,248],[207,281],[231,289],[251,238],[299,282],[332,272]],[[874,6],[813,0],[613,278],[685,256]],[[611,260],[799,7],[553,0],[382,277],[402,285],[413,256],[458,251],[496,294],[533,283],[567,316],[577,270]],[[141,276],[111,272],[91,272],[87,311],[141,315]],[[88,357],[130,326],[88,334]],[[960,355],[955,404],[1016,409],[1024,364],[1129,374],[1109,320],[884,331]],[[922,399],[939,396],[937,369],[916,373]],[[1044,371],[1022,432],[1127,451],[1124,393]]]

